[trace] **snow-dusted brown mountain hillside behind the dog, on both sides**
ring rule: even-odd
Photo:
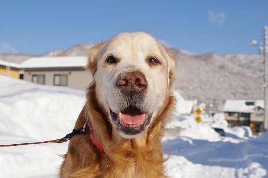
[[[56,50],[41,56],[84,56],[92,43]],[[196,55],[170,48],[178,60],[174,88],[185,99],[223,103],[226,99],[262,99],[263,57],[260,55],[215,53]],[[32,56],[0,54],[0,60],[20,63]]]

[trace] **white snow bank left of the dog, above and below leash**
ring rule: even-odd
[[[83,91],[0,75],[0,144],[52,140],[71,132]],[[0,177],[56,177],[67,143],[1,147]]]

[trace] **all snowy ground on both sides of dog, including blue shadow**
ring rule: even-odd
[[[83,91],[0,75],[0,144],[61,138],[71,132],[83,104]],[[169,156],[167,174],[172,178],[267,178],[268,133],[255,137],[248,127],[230,129],[221,115],[212,121],[212,126],[224,128],[225,137],[205,122],[197,124],[193,117],[176,115],[162,141]],[[66,151],[67,143],[0,147],[0,178],[56,178],[63,161],[60,155]]]

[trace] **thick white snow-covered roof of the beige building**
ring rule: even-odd
[[[86,57],[39,57],[30,58],[20,63],[19,68],[52,68],[52,67],[83,67],[87,64]]]

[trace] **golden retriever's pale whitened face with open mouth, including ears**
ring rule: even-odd
[[[175,59],[150,35],[121,33],[89,51],[96,97],[125,138],[146,132],[167,104]]]

